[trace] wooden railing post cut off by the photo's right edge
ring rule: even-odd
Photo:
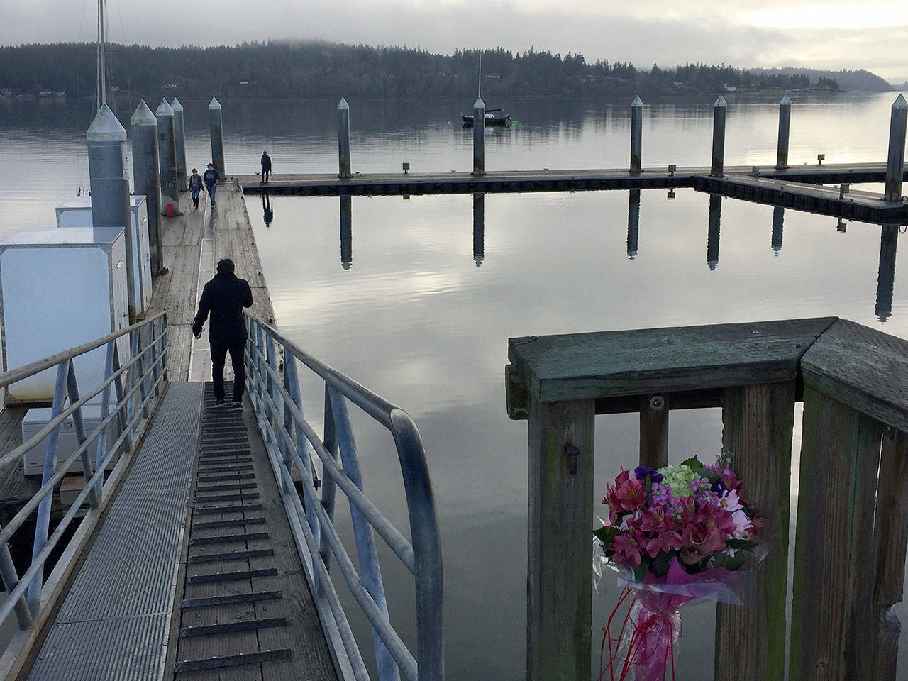
[[[880,454],[876,494],[876,588],[873,591],[874,626],[870,631],[873,671],[870,681],[892,681],[902,623],[891,608],[903,598],[905,549],[908,548],[908,434],[886,428]]]

